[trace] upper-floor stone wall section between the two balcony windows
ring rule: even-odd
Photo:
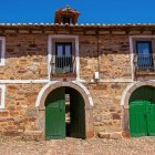
[[[81,35],[80,64],[81,78],[86,81],[95,71],[100,71],[101,80],[131,79],[128,35]]]

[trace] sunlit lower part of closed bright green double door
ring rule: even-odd
[[[155,136],[155,104],[135,101],[130,104],[131,136]]]

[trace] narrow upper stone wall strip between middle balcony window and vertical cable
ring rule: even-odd
[[[80,78],[86,81],[93,79],[97,71],[97,40],[96,37],[80,37]]]

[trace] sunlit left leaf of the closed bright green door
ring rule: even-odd
[[[130,103],[130,133],[131,136],[147,135],[147,115],[145,101]]]

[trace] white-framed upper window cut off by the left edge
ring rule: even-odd
[[[0,65],[4,65],[6,38],[0,37]]]

